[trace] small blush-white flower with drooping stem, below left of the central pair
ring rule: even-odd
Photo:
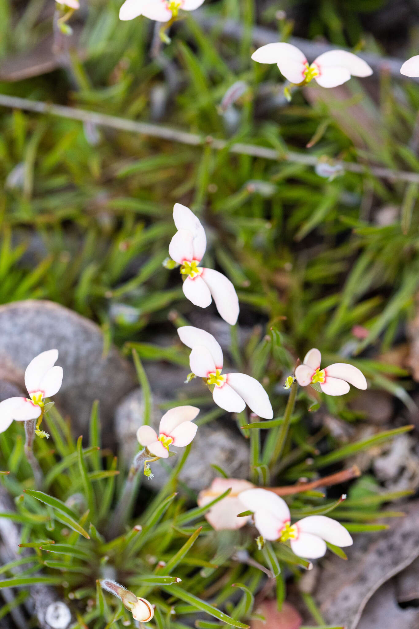
[[[151,426],[138,428],[138,442],[156,457],[167,459],[170,445],[183,448],[195,437],[198,426],[193,420],[198,413],[199,408],[195,406],[171,408],[160,420],[159,434]]]

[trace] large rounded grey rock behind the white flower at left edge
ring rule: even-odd
[[[28,299],[0,307],[0,381],[24,390],[26,366],[52,348],[58,349],[57,364],[64,372],[54,396],[57,408],[70,415],[80,435],[87,432],[92,403],[99,399],[104,440],[110,443],[117,403],[137,384],[128,360],[114,347],[103,357],[99,326],[64,306]]]

